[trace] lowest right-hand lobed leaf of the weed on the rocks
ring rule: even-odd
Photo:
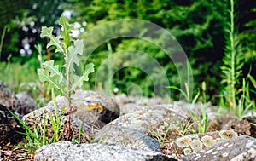
[[[73,83],[73,86],[71,87],[71,90],[75,90],[76,88],[81,88],[83,85],[83,82],[89,80],[88,76],[91,72],[94,72],[94,64],[92,63],[85,66],[85,70],[82,76],[79,77],[74,75],[73,76],[74,83]]]

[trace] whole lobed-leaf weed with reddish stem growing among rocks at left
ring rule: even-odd
[[[55,65],[54,60],[49,60],[42,63],[42,67],[38,69],[38,76],[41,82],[49,84],[50,89],[55,89],[67,98],[67,127],[65,130],[67,140],[71,141],[70,116],[68,115],[69,112],[72,112],[70,96],[76,89],[82,87],[84,81],[89,80],[88,76],[91,72],[94,72],[94,65],[90,63],[83,70],[79,64],[79,55],[83,55],[83,40],[73,40],[70,36],[73,27],[68,24],[67,18],[63,15],[60,19],[60,25],[61,35],[55,37],[52,35],[53,27],[43,26],[40,36],[49,37],[50,41],[47,48],[53,46],[55,47],[55,53],[63,55],[62,70],[59,69],[58,65]],[[79,73],[79,71],[84,72]]]

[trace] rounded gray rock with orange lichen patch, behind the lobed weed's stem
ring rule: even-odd
[[[119,106],[107,95],[90,90],[76,90],[71,99],[74,117],[86,124],[94,124],[99,129],[119,117]],[[65,97],[58,96],[56,101],[60,108],[67,107]],[[49,105],[52,106],[52,102]]]

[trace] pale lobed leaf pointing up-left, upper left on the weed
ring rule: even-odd
[[[52,31],[53,31],[53,27],[43,26],[40,37],[49,37],[50,41],[47,44],[47,48],[49,48],[50,46],[55,46],[56,47],[55,53],[56,52],[64,53],[64,49],[61,47],[61,44],[60,44],[61,36],[54,37],[52,35]]]

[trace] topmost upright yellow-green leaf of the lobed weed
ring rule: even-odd
[[[69,36],[69,34],[72,32],[71,30],[73,30],[72,26],[69,26],[68,22],[67,22],[67,17],[61,15],[61,19],[60,19],[60,25],[62,26],[61,28],[61,36],[63,37],[63,43],[65,46],[65,49],[67,49],[67,47],[69,46],[71,37]]]

